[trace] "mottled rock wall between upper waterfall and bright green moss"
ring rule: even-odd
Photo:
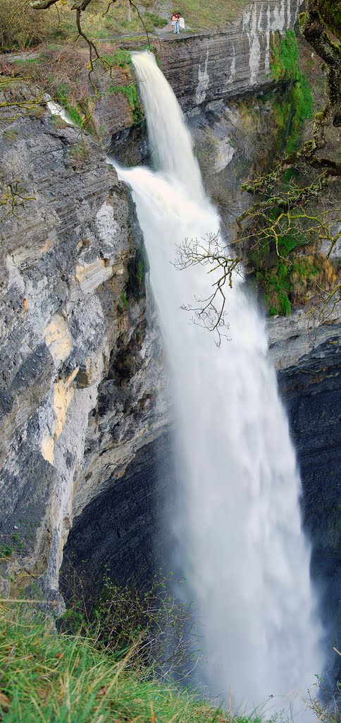
[[[274,113],[283,92],[272,88],[247,98],[212,100],[188,116],[205,189],[219,210],[226,239],[241,209],[252,202],[241,184],[265,173],[283,142]]]

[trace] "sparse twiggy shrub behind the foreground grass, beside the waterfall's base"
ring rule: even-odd
[[[133,584],[120,586],[105,576],[97,602],[83,594],[76,578],[71,608],[58,622],[58,629],[86,634],[98,649],[119,661],[128,654],[129,665],[148,667],[163,677],[188,676],[198,660],[197,638],[191,605],[169,591],[169,581],[155,578],[146,591]]]

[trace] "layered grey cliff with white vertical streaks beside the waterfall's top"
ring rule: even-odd
[[[271,35],[293,27],[299,4],[298,0],[254,0],[223,33],[156,46],[183,110],[270,85]]]

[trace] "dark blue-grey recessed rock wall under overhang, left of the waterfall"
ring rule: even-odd
[[[148,586],[167,571],[169,508],[174,495],[172,433],[140,448],[123,476],[105,470],[105,486],[74,519],[64,548],[61,592],[74,595],[74,572],[96,597],[104,575]]]

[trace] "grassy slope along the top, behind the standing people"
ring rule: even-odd
[[[61,43],[77,33],[76,14],[84,33],[95,39],[134,33],[168,30],[174,10],[185,18],[185,32],[221,30],[239,15],[248,0],[217,3],[181,0],[169,7],[168,0],[1,0],[0,48],[29,48],[40,43]],[[176,5],[176,7],[175,7]],[[37,12],[47,10],[48,12]]]

